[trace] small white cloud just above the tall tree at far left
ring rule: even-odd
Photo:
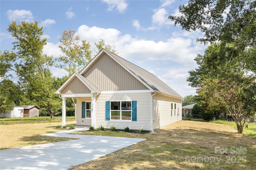
[[[8,10],[6,15],[10,21],[32,22],[34,20],[33,14],[30,10]]]

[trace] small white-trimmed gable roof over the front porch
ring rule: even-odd
[[[66,80],[64,82],[64,84],[62,84],[60,86],[60,88],[58,88],[58,90],[56,90],[56,94],[60,94],[60,92],[66,87],[68,86],[68,84],[75,78],[77,77],[88,89],[91,90],[91,93],[94,93],[94,92],[100,92],[100,90],[98,88],[96,88],[96,86],[94,86],[94,84],[92,84],[87,78],[85,78],[84,76],[82,76],[81,74],[79,73],[73,73],[69,78],[68,80]]]

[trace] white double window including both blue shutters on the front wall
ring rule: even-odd
[[[137,121],[137,101],[106,101],[105,120]]]

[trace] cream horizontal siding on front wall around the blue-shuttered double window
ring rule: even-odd
[[[137,121],[111,121],[105,120],[105,102],[111,100],[137,101]],[[99,94],[96,99],[96,127],[100,126],[116,129],[144,129],[150,130],[150,92],[146,93],[120,93],[120,94]]]

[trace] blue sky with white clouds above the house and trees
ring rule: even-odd
[[[7,31],[12,21],[39,21],[47,45],[43,52],[54,58],[62,55],[59,39],[72,29],[80,40],[94,43],[104,39],[118,55],[155,74],[182,97],[195,95],[188,86],[188,71],[197,68],[194,58],[206,46],[196,42],[202,33],[185,31],[169,15],[180,16],[178,7],[187,0],[1,0],[0,49],[12,50],[15,39]],[[68,73],[52,67],[53,76]]]

